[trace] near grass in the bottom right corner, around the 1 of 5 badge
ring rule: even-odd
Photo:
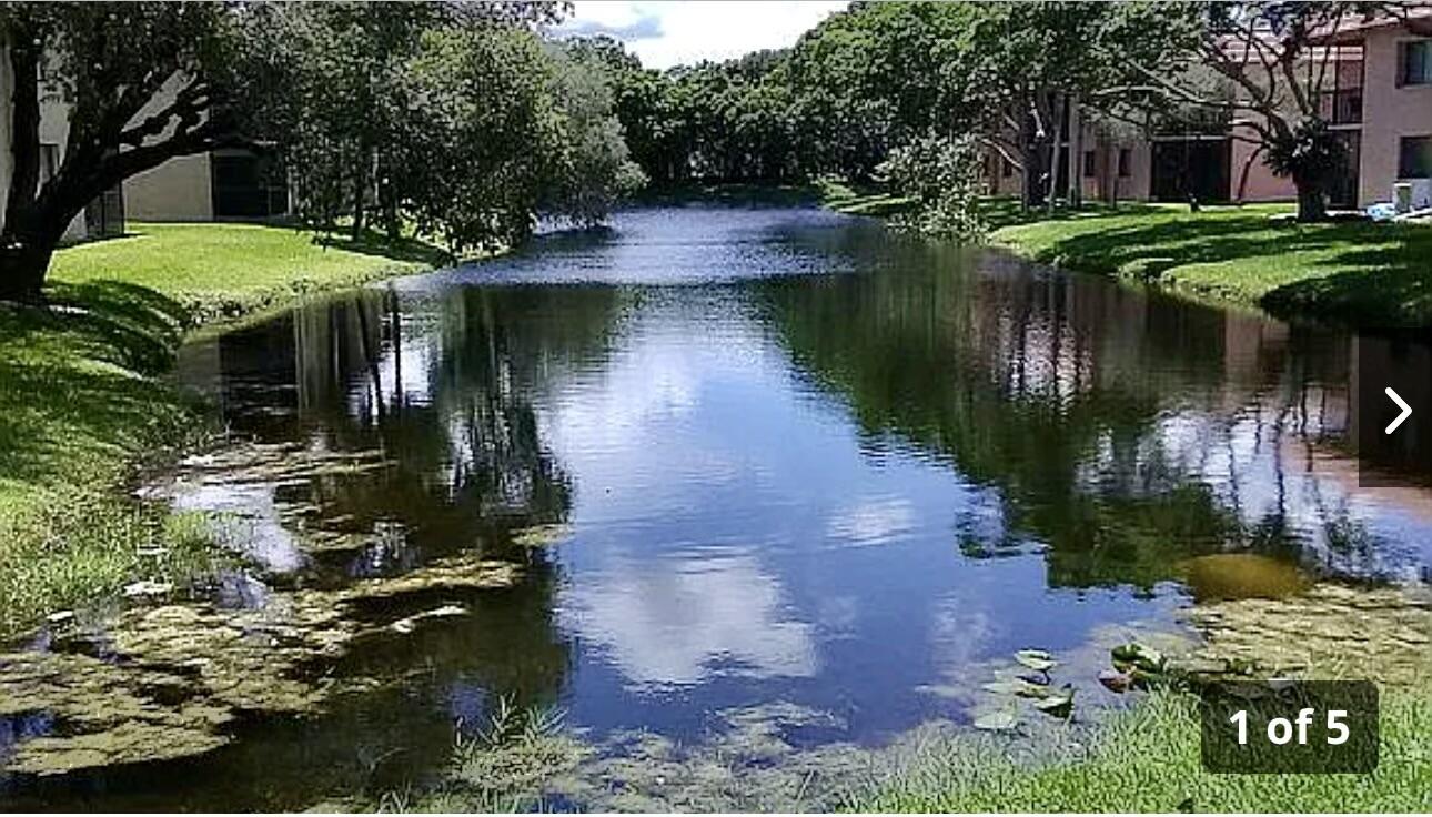
[[[1389,811],[1432,808],[1432,705],[1385,694],[1372,774],[1209,774],[1199,758],[1199,705],[1161,691],[1118,715],[1083,755],[1028,768],[959,745],[922,747],[856,811]],[[968,747],[964,747],[968,748]]]

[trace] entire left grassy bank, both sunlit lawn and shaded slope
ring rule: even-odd
[[[130,233],[62,249],[49,308],[0,305],[0,637],[132,581],[211,569],[198,519],[129,495],[205,431],[202,406],[163,379],[185,329],[438,258],[252,225]]]

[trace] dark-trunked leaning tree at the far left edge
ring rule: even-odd
[[[243,137],[266,87],[265,10],[219,3],[4,3],[13,170],[0,299],[33,300],[66,226],[105,190]],[[69,109],[63,162],[42,179],[42,99]]]

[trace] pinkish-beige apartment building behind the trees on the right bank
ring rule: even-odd
[[[1413,206],[1432,206],[1432,11],[1343,27],[1327,43],[1333,77],[1322,112],[1348,146],[1349,163],[1329,193],[1333,207],[1393,200],[1408,183]],[[1060,146],[1077,166],[1085,199],[1280,202],[1296,199],[1292,180],[1267,169],[1254,146],[1227,134],[1110,137],[1083,124],[1081,146]],[[1078,156],[1071,153],[1078,152]],[[1063,170],[1063,169],[1061,169]],[[992,157],[991,192],[1020,195],[1020,170]],[[1067,190],[1061,172],[1058,190]]]

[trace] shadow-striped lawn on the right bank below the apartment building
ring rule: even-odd
[[[1432,226],[1300,225],[1285,205],[1128,206],[1005,226],[992,243],[1113,273],[1360,328],[1432,325]]]

